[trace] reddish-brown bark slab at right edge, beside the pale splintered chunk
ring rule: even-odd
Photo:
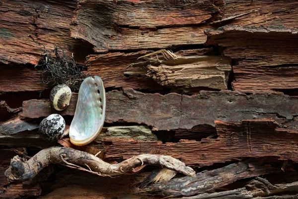
[[[219,45],[223,55],[237,60],[238,65],[233,66],[235,90],[298,88],[297,30],[225,26],[206,34],[207,44]]]

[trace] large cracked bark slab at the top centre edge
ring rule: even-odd
[[[93,44],[95,52],[203,44],[208,25],[193,25],[220,18],[223,7],[223,0],[85,0],[75,10],[71,35]]]

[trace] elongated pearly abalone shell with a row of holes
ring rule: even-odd
[[[106,97],[98,76],[86,78],[78,92],[70,138],[74,145],[92,142],[100,133],[105,118]]]

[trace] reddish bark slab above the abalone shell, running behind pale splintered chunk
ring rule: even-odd
[[[132,63],[138,62],[137,59],[152,51],[139,51],[133,53],[107,53],[100,55],[89,55],[85,62],[88,73],[91,76],[99,76],[105,88],[130,88],[146,89],[149,91],[161,91],[164,87],[154,82],[145,73],[130,74],[134,68],[127,67]],[[192,49],[179,51],[177,55],[209,55],[214,54],[212,48]]]

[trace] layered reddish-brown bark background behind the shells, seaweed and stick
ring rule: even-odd
[[[297,0],[0,0],[0,199],[297,198],[297,21]],[[107,92],[103,131],[80,150],[169,155],[196,177],[50,165],[8,182],[13,156],[65,145],[37,133],[52,113],[69,125],[77,100],[54,110],[34,67],[54,44]]]

